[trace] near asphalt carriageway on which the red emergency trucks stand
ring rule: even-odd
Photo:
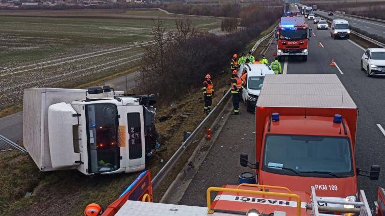
[[[360,70],[360,60],[364,53],[362,47],[350,40],[333,40],[328,30],[317,30],[313,21],[308,23],[315,36],[310,39],[307,62],[295,58],[286,59],[281,62],[283,71],[287,74],[337,74],[341,79],[360,111],[354,152],[356,165],[363,170],[369,170],[371,165],[379,165],[382,169],[377,181],[358,177],[358,187],[365,191],[369,204],[374,208],[377,186],[385,185],[385,131],[381,131],[385,127],[385,97],[382,93],[385,77],[367,77]],[[276,41],[273,39],[266,52],[269,62],[273,61],[275,51]],[[330,66],[331,59],[335,60],[339,69]],[[237,184],[238,175],[243,172],[239,165],[239,154],[246,151],[250,157],[255,146],[255,133],[250,133],[255,129],[254,115],[245,112],[242,103],[240,110],[239,116],[230,116],[226,122],[206,162],[200,167],[179,204],[206,206],[204,195],[208,187]],[[197,196],[200,198],[197,199]]]

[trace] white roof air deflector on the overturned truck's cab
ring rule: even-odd
[[[49,153],[54,169],[80,165],[80,153],[74,150],[72,131],[73,125],[78,124],[78,114],[71,104],[62,102],[48,107]]]

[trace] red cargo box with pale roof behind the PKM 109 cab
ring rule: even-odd
[[[260,155],[263,128],[272,113],[284,116],[341,114],[355,144],[358,108],[336,74],[266,75],[256,103],[256,155]]]

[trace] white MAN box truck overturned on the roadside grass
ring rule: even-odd
[[[24,90],[24,147],[41,171],[95,175],[145,168],[156,145],[155,97],[111,90]]]

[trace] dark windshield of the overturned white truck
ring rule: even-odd
[[[109,172],[120,166],[118,110],[112,103],[86,105],[90,173]]]

